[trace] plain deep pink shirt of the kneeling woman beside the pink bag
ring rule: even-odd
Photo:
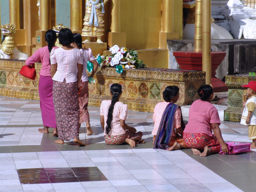
[[[211,123],[221,123],[217,109],[209,102],[196,100],[189,109],[189,122],[184,133],[204,133],[212,137]]]

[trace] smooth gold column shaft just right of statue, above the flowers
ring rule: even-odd
[[[111,11],[111,32],[121,32],[121,1],[112,0],[113,8]]]

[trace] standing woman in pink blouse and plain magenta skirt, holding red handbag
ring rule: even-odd
[[[40,97],[40,108],[42,113],[42,120],[44,128],[39,128],[41,133],[49,133],[48,128],[54,128],[53,136],[58,136],[56,130],[55,111],[52,100],[52,77],[50,72],[50,52],[56,41],[56,32],[48,30],[45,33],[46,47],[38,49],[31,57],[26,60],[26,65],[32,65],[35,62],[41,61],[42,67],[39,72],[38,92]],[[58,47],[54,47],[58,48]]]

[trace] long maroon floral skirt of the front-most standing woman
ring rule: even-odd
[[[69,141],[79,137],[79,102],[77,82],[53,81],[53,104],[58,137]]]

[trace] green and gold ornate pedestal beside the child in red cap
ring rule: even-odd
[[[246,89],[242,85],[250,81],[256,81],[256,77],[249,77],[248,74],[228,75],[226,82],[228,88],[227,110],[224,111],[224,121],[240,122],[243,106],[246,101]]]

